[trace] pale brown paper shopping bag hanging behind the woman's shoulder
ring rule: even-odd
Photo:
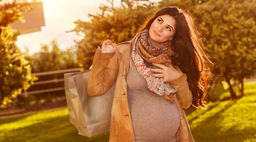
[[[65,73],[65,97],[70,122],[82,136],[95,136],[110,130],[114,85],[101,96],[87,96],[87,72]]]

